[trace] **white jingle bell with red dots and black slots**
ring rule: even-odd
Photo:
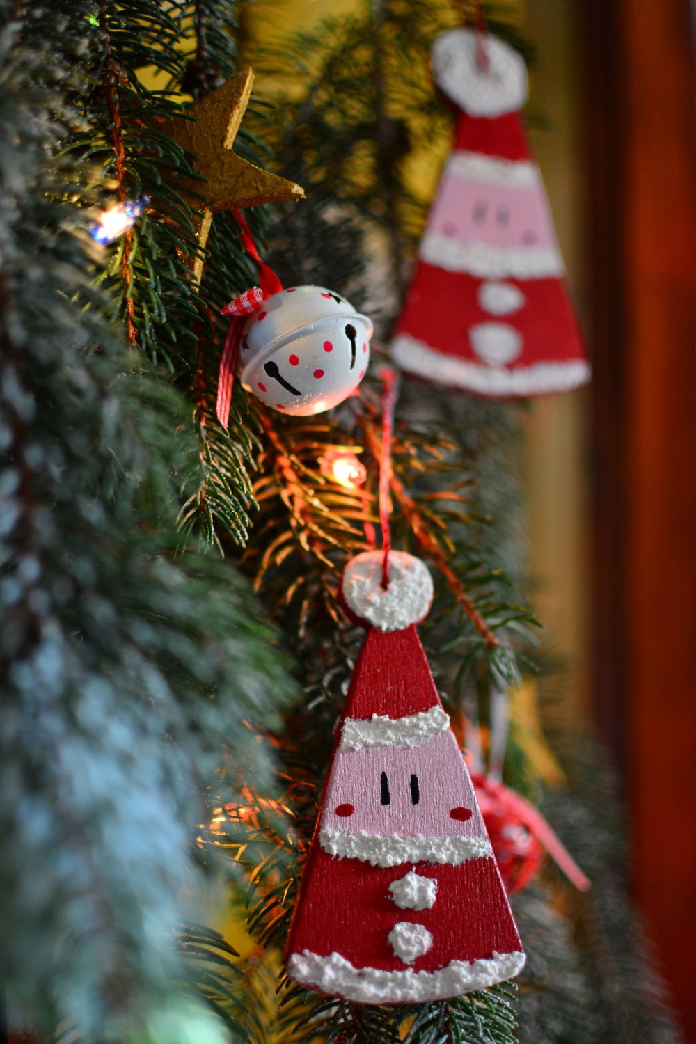
[[[373,324],[322,286],[292,286],[244,323],[241,381],[271,409],[310,417],[346,399],[365,375]]]

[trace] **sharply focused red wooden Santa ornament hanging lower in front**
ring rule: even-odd
[[[367,626],[288,939],[297,982],[368,1004],[453,997],[525,962],[472,781],[415,624],[417,559],[369,551],[342,593]]]

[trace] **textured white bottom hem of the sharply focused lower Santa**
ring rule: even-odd
[[[442,1000],[504,982],[524,967],[525,955],[496,953],[480,960],[452,960],[436,972],[414,972],[408,968],[385,972],[377,968],[355,968],[340,953],[321,956],[311,950],[291,953],[288,974],[296,982],[317,987],[329,996],[343,997],[362,1004],[419,1003]]]

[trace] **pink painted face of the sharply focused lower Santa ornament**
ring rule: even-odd
[[[404,837],[485,834],[466,766],[450,730],[418,746],[339,749],[321,827]]]

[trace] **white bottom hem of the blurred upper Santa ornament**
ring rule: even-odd
[[[533,396],[570,392],[586,384],[591,377],[590,365],[584,359],[536,362],[515,370],[493,370],[467,359],[442,355],[405,333],[392,340],[391,357],[398,366],[410,374],[479,395]]]

